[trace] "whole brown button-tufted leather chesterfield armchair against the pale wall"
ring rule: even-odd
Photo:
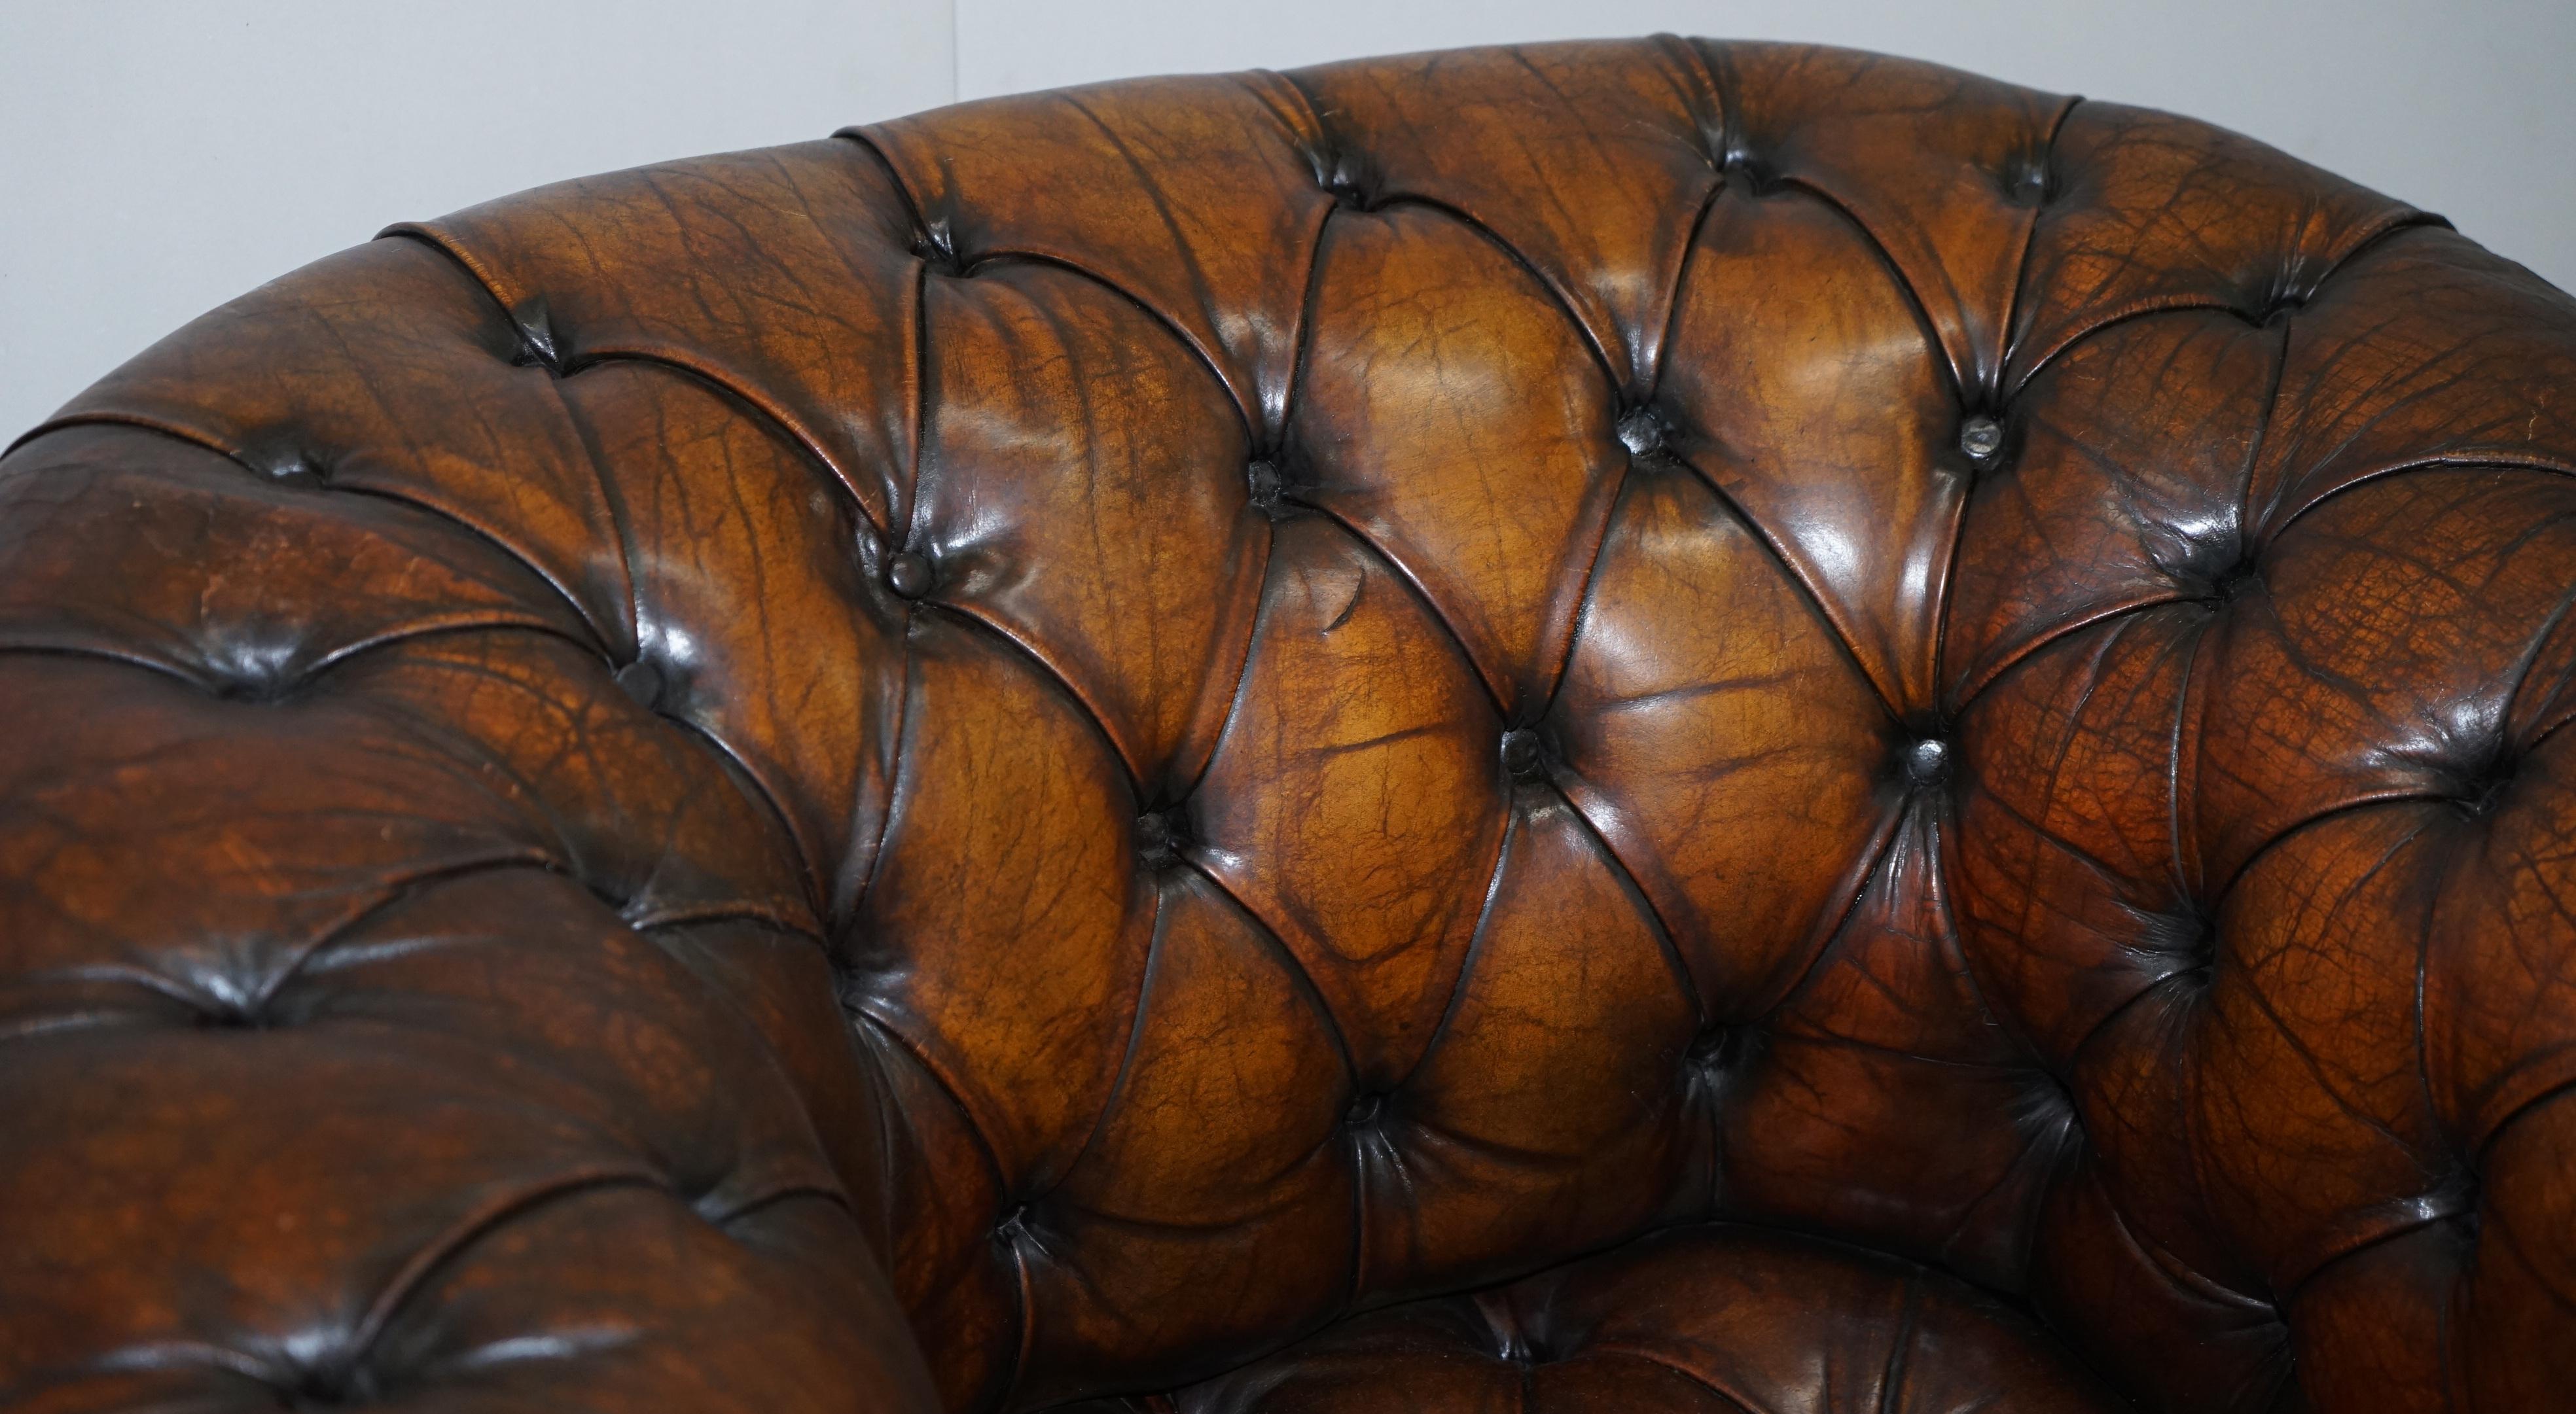
[[[1832,49],[394,227],[0,461],[0,1404],[2563,1409],[2571,474]]]

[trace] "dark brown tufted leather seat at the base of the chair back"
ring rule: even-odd
[[[2128,1404],[2030,1316],[1955,1277],[1772,1229],[1705,1223],[1512,1285],[1342,1321],[1172,1396],[1170,1409],[2084,1414]]]

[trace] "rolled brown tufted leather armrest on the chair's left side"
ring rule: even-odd
[[[520,559],[72,425],[0,683],[0,1406],[935,1406],[793,850]]]

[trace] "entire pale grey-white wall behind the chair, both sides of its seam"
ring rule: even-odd
[[[270,276],[554,178],[1095,77],[1656,28],[2177,108],[2576,288],[2576,0],[0,0],[0,440]]]

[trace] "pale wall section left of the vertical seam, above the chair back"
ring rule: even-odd
[[[945,0],[0,0],[0,446],[392,222],[948,103],[951,39]]]

